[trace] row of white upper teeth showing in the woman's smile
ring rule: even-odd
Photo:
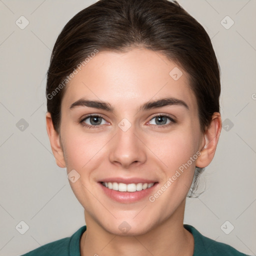
[[[130,183],[130,184],[124,184],[124,183],[117,183],[117,182],[102,182],[102,184],[105,187],[108,187],[109,189],[118,190],[120,192],[135,192],[140,191],[142,189],[149,188],[153,186],[154,183]]]

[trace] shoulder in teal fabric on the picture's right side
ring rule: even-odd
[[[184,224],[184,228],[192,233],[194,237],[193,256],[248,256],[226,243],[217,242],[202,235],[191,225]]]

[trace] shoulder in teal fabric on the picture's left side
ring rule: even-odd
[[[53,242],[46,243],[34,250],[22,254],[21,256],[79,255],[80,237],[85,230],[86,226],[84,225],[69,237],[65,237]]]

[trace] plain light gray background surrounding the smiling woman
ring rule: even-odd
[[[44,94],[58,33],[74,14],[93,2],[0,0],[0,255],[25,253],[70,236],[85,224],[66,169],[55,164],[51,153]],[[201,177],[205,192],[187,199],[184,223],[255,255],[256,0],[178,2],[211,37],[221,67],[220,105],[225,126],[215,157]],[[29,21],[24,29],[15,23],[21,15]],[[223,25],[229,26],[230,19],[221,23],[226,15],[234,21],[229,29]],[[21,118],[28,123],[23,130]],[[20,233],[22,228],[24,231],[22,222],[22,228],[15,228],[21,220],[29,226],[24,234]],[[230,223],[223,229],[226,220]],[[224,233],[231,224],[234,229]]]

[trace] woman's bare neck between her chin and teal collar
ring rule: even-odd
[[[84,211],[86,231],[80,240],[81,256],[192,256],[193,236],[183,227],[184,203],[164,222],[139,235],[112,234]]]

